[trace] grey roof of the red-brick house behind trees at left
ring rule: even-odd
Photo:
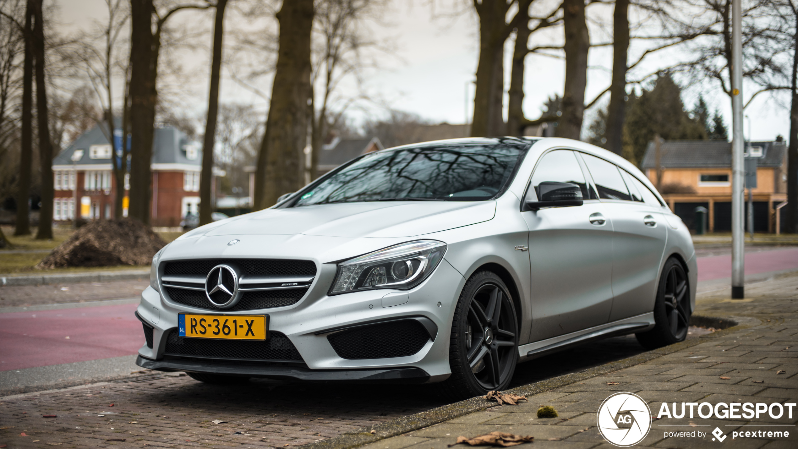
[[[65,150],[61,150],[53,158],[53,165],[72,165],[73,153],[82,149],[84,150],[83,156],[75,162],[77,165],[87,169],[91,168],[92,165],[107,166],[111,163],[111,158],[91,159],[89,156],[89,148],[92,145],[109,144],[108,138],[105,136],[105,130],[107,129],[105,124],[98,124],[89,129],[89,131],[84,132],[73,144],[69,145]],[[117,145],[119,142],[120,139],[117,139]],[[187,150],[192,146],[196,148],[196,158],[193,160],[187,157]],[[188,140],[185,134],[176,128],[156,128],[152,142],[152,163],[181,163],[199,166],[202,163],[202,147],[196,142]]]

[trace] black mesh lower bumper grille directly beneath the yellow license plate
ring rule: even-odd
[[[166,340],[164,355],[219,360],[305,362],[288,337],[274,331],[269,332],[267,341],[251,341],[180,337],[177,329],[172,329]]]

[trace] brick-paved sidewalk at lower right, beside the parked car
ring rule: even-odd
[[[741,317],[753,325],[722,336],[710,336],[689,348],[649,360],[636,366],[610,372],[576,384],[529,396],[528,403],[488,408],[449,419],[405,435],[367,444],[361,449],[443,449],[456,437],[473,437],[491,431],[532,435],[532,447],[609,449],[599,434],[597,412],[602,402],[615,392],[634,392],[648,402],[657,416],[662,402],[717,403],[796,403],[798,401],[798,277],[781,278],[746,287],[745,300],[727,299],[728,292],[710,292],[697,303],[697,314],[714,317]],[[774,294],[775,293],[775,294]],[[747,318],[746,318],[747,317]],[[784,371],[784,372],[782,372]],[[782,373],[780,373],[782,372]],[[723,379],[726,377],[727,379]],[[617,384],[616,384],[617,383]],[[559,418],[539,419],[536,411],[551,405]],[[670,406],[672,410],[672,406]],[[706,408],[704,409],[706,411]],[[723,408],[721,408],[721,411]],[[776,413],[777,415],[777,413]],[[772,419],[652,419],[651,431],[638,446],[692,448],[745,447],[766,449],[798,447],[798,428],[772,424],[798,423],[798,408],[792,418]],[[768,427],[750,424],[769,424]],[[680,426],[674,426],[680,424]],[[749,426],[745,426],[748,424]],[[713,440],[712,431],[721,428],[724,443]],[[733,431],[788,431],[786,438],[740,437]],[[704,438],[670,437],[666,431],[700,431]],[[756,433],[756,432],[755,432]],[[463,447],[468,447],[462,445]]]

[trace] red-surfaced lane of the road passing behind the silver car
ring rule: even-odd
[[[729,254],[698,258],[698,281],[729,278]],[[798,270],[798,248],[745,254],[745,274]],[[0,371],[135,355],[136,304],[0,313]],[[67,338],[69,337],[69,338]]]

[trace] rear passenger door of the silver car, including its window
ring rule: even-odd
[[[646,203],[639,187],[654,195],[634,175],[596,156],[581,156],[612,218],[613,301],[609,321],[650,312],[667,237],[662,209],[658,203]]]

